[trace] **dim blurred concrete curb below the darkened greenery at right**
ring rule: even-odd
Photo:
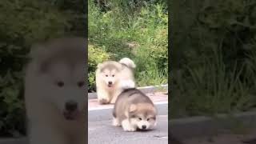
[[[256,111],[238,114],[218,114],[215,118],[192,117],[180,118],[169,121],[170,134],[175,138],[194,138],[214,134],[230,133],[238,126],[246,128],[256,127]]]

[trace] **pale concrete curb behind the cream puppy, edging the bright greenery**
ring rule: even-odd
[[[168,89],[168,85],[138,87],[138,90],[142,90],[143,93],[153,93],[159,89]],[[88,98],[97,98],[97,93],[89,93]]]

